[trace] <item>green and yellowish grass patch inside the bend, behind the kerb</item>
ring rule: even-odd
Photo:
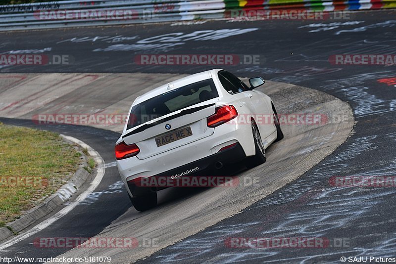
[[[80,156],[56,133],[0,124],[0,227],[62,186]],[[15,176],[42,180],[23,186],[10,181]]]

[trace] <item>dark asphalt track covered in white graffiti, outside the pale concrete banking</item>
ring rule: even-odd
[[[137,65],[134,56],[150,53],[260,55],[259,65],[221,68],[238,76],[263,76],[336,96],[353,109],[354,133],[303,176],[243,212],[159,250],[141,262],[340,263],[341,257],[396,257],[395,187],[341,188],[329,184],[331,176],[396,174],[396,66],[332,65],[329,62],[329,57],[335,54],[396,54],[395,14],[395,11],[359,12],[343,21],[208,21],[188,26],[136,25],[2,33],[0,53],[68,55],[73,63],[0,66],[0,72],[187,74],[213,66]],[[169,33],[174,34],[161,36]],[[0,121],[32,126],[30,120]],[[105,163],[113,161],[112,148],[118,133],[87,127],[50,126],[50,129],[85,141],[102,155]],[[115,167],[107,170],[117,173]],[[104,178],[99,187],[106,190],[111,183]],[[73,210],[37,236],[93,236],[129,207],[125,192],[103,195],[90,206]],[[89,215],[90,220],[81,222],[82,215]],[[178,222],[173,224],[177,230]],[[330,244],[314,249],[228,248],[224,241],[232,237],[322,237]],[[343,241],[341,246],[339,241]],[[37,254],[34,253],[37,249],[26,243],[15,244],[8,250],[12,254]],[[65,251],[51,249],[40,255],[57,256]],[[1,252],[4,254],[7,251]]]

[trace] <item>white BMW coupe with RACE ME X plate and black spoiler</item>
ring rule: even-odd
[[[264,80],[251,78],[249,84],[213,69],[136,98],[115,156],[138,211],[156,206],[161,189],[142,186],[142,179],[202,176],[236,161],[244,160],[247,168],[266,161],[265,149],[283,133],[271,98],[254,89]],[[263,116],[271,118],[263,122]]]

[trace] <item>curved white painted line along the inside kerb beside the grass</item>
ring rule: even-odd
[[[47,226],[49,226],[56,220],[65,216],[67,213],[69,213],[71,210],[73,210],[79,204],[79,202],[81,202],[85,198],[87,198],[87,196],[98,187],[100,181],[102,180],[102,178],[104,176],[105,169],[104,169],[104,161],[103,161],[102,157],[100,157],[99,153],[96,150],[94,150],[92,147],[90,147],[89,145],[87,145],[86,143],[84,143],[83,141],[81,141],[75,137],[67,136],[67,135],[63,135],[63,134],[60,134],[60,135],[63,138],[70,140],[73,143],[76,143],[76,144],[80,145],[81,147],[86,148],[88,150],[89,155],[95,160],[96,164],[98,165],[97,166],[98,175],[91,182],[91,185],[88,187],[88,189],[85,190],[82,194],[80,194],[73,203],[71,203],[69,206],[63,208],[62,210],[60,210],[59,212],[57,212],[55,215],[53,215],[49,219],[34,226],[29,231],[22,233],[20,235],[17,235],[14,238],[1,244],[0,250],[4,250],[16,243],[28,238],[29,236],[36,234],[37,232],[43,230],[44,228],[46,228]]]

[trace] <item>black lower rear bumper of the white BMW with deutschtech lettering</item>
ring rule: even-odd
[[[239,160],[242,160],[246,157],[244,149],[242,148],[240,143],[236,143],[236,145],[227,148],[223,151],[217,152],[216,154],[207,156],[205,158],[199,159],[197,161],[188,163],[186,165],[180,166],[178,168],[150,176],[150,177],[156,177],[157,179],[159,178],[171,178],[172,176],[180,175],[182,173],[188,172],[190,170],[194,170],[198,168],[198,170],[188,173],[184,176],[179,176],[179,177],[185,177],[185,176],[207,176],[207,173],[210,172],[211,170],[216,169],[215,164],[217,162],[221,162],[223,164],[227,163],[233,163]],[[136,180],[136,179],[135,179]],[[169,179],[170,180],[170,179]],[[142,186],[137,186],[135,184],[136,181],[134,180],[129,180],[127,181],[128,184],[128,189],[130,193],[133,196],[141,196],[144,194],[147,194],[149,192],[154,192],[158,190],[165,189],[167,187],[142,187]]]

